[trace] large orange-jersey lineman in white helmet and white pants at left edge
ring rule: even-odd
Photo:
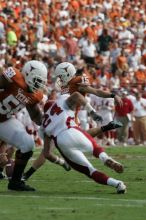
[[[17,148],[12,179],[8,183],[10,190],[35,190],[21,181],[35,143],[14,115],[26,107],[31,119],[40,125],[42,113],[37,104],[43,98],[46,83],[47,68],[36,60],[26,62],[22,72],[9,67],[0,75],[0,140]]]

